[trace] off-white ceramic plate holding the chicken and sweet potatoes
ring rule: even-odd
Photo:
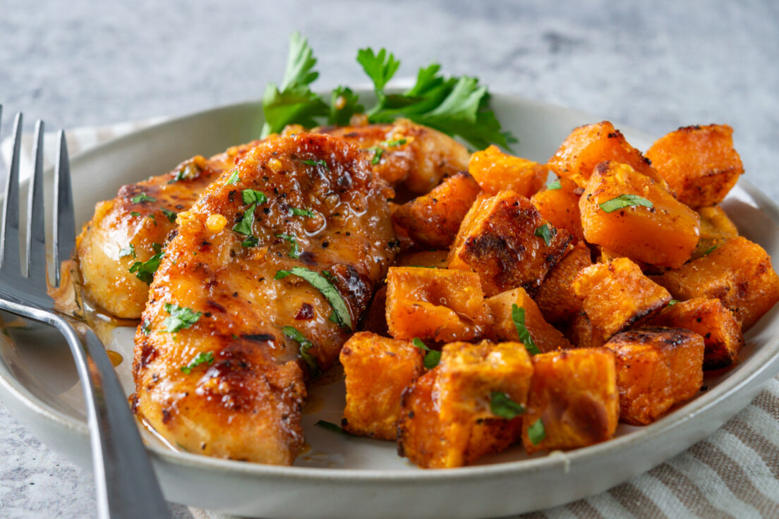
[[[514,96],[493,107],[520,142],[514,151],[545,161],[570,130],[599,121],[574,110]],[[72,160],[76,219],[120,184],[170,170],[196,154],[217,153],[259,135],[259,103],[208,110],[128,135]],[[651,139],[626,131],[647,149]],[[738,229],[779,258],[779,209],[745,182],[724,202]],[[517,446],[481,465],[421,470],[394,444],[342,437],[315,427],[337,423],[344,389],[337,375],[312,390],[303,419],[310,448],[293,467],[227,461],[174,451],[144,431],[168,500],[252,517],[495,517],[551,507],[608,489],[703,439],[735,415],[779,369],[779,308],[747,335],[742,362],[707,379],[708,391],[650,426],[619,426],[613,440],[566,454],[527,457]],[[80,465],[90,464],[81,389],[58,335],[4,314],[0,336],[0,397],[44,443]],[[109,349],[124,361],[117,371],[132,392],[132,328],[113,332]]]

